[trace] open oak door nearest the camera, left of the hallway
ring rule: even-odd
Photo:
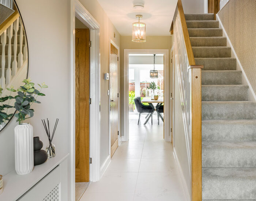
[[[90,33],[89,29],[75,31],[75,181],[89,182]]]

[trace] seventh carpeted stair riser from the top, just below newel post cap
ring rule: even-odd
[[[241,71],[202,71],[202,85],[242,84]]]

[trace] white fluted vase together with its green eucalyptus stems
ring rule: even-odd
[[[28,174],[34,167],[33,155],[33,127],[29,123],[24,123],[28,118],[34,116],[34,110],[31,109],[33,103],[41,103],[37,101],[38,96],[45,96],[41,93],[43,88],[47,88],[44,83],[38,84],[39,90],[35,89],[35,84],[30,79],[22,81],[25,83],[16,91],[14,107],[17,113],[14,115],[19,124],[14,128],[15,139],[15,171],[19,175]]]

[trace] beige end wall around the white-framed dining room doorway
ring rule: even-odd
[[[147,36],[146,42],[132,42],[132,36],[121,36],[121,115],[123,114],[123,88],[124,88],[124,49],[169,49],[173,44],[173,37],[170,36]],[[169,65],[170,67],[170,65]],[[123,118],[122,118],[123,121]],[[123,122],[122,122],[123,124]],[[124,135],[124,130],[121,128],[121,134]]]

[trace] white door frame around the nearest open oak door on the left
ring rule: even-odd
[[[100,179],[99,23],[79,0],[71,0],[71,200],[75,200],[75,17],[90,29],[90,181]]]

